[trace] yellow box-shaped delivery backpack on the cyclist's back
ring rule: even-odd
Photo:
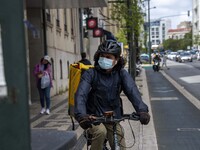
[[[68,95],[68,114],[74,117],[74,96],[78,88],[83,71],[93,68],[93,65],[84,65],[83,63],[75,63],[70,65],[69,75],[69,95]]]

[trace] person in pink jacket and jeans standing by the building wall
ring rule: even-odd
[[[52,87],[52,75],[51,75],[51,61],[49,56],[44,56],[41,58],[40,63],[35,65],[34,75],[36,78],[36,85],[40,96],[40,104],[41,104],[41,114],[46,112],[47,115],[50,114],[50,90]],[[42,87],[42,78],[47,76],[49,81],[47,82],[46,87]],[[45,108],[46,102],[46,108]]]

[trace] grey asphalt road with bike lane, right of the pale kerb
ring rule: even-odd
[[[200,111],[189,101],[199,101],[198,65],[168,61],[169,70],[153,72],[150,67],[145,69],[159,150],[200,148]],[[179,86],[174,86],[175,83]],[[191,92],[191,97],[185,97],[183,87]]]

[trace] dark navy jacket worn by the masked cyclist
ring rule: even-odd
[[[86,70],[75,94],[76,120],[80,121],[87,114],[102,116],[105,111],[114,111],[114,115],[120,118],[121,90],[137,112],[148,112],[134,80],[125,69],[114,70],[111,73],[105,73],[98,67]]]

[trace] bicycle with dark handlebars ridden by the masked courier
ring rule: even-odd
[[[120,144],[118,142],[118,138],[117,138],[116,125],[119,122],[124,121],[125,119],[139,121],[140,117],[139,117],[139,115],[137,113],[134,112],[132,114],[124,114],[122,116],[122,118],[117,119],[117,118],[114,118],[113,112],[109,111],[109,112],[105,112],[104,116],[102,116],[102,117],[95,117],[95,120],[92,121],[92,124],[100,124],[100,123],[104,124],[104,123],[108,123],[108,124],[112,124],[113,125],[113,138],[114,138],[113,142],[114,142],[114,148],[112,150],[120,150],[121,149]],[[87,130],[84,131],[84,135],[85,135],[85,137],[87,139],[87,150],[88,150],[88,147],[91,144],[91,137],[90,137],[91,135],[88,135]],[[133,133],[133,136],[134,136],[134,133]],[[103,150],[109,150],[106,147],[106,143],[107,143],[107,139],[104,142]]]

